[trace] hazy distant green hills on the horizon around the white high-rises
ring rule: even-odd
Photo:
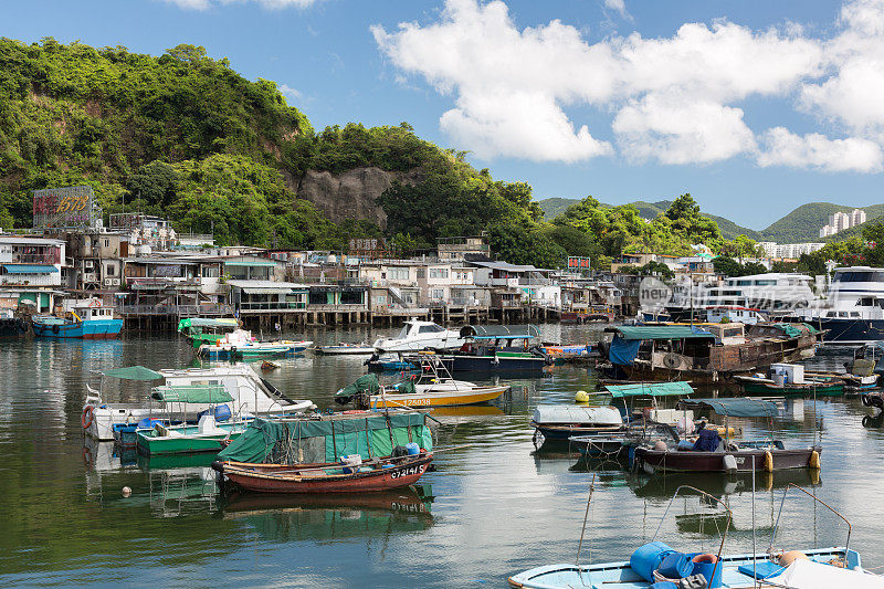
[[[544,211],[544,218],[547,221],[551,221],[556,217],[564,213],[568,207],[576,204],[577,202],[580,202],[580,199],[550,198],[538,201],[538,204]],[[636,200],[634,202],[630,202],[630,204],[639,209],[639,214],[641,214],[643,218],[653,219],[654,217],[665,212],[670,204],[672,204],[672,201],[660,200],[656,202],[646,202],[643,200]],[[610,207],[610,204],[607,206]],[[884,204],[871,204],[869,207],[861,208],[865,211],[866,223],[873,219],[884,215]],[[841,239],[846,239],[850,235],[860,234],[862,225],[842,231],[835,235],[832,235],[831,238],[823,240],[820,239],[820,228],[829,222],[830,214],[838,211],[850,212],[853,209],[854,207],[833,204],[831,202],[809,202],[794,209],[761,231],[738,225],[734,221],[716,214],[703,213],[703,215],[708,217],[718,223],[718,229],[722,230],[722,234],[729,240],[733,240],[739,234],[744,234],[756,241],[802,243],[808,241],[838,241]]]

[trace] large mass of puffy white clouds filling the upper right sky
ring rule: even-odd
[[[623,0],[603,2],[625,13]],[[371,31],[400,71],[452,96],[440,125],[483,159],[586,160],[613,152],[602,139],[611,134],[630,159],[706,164],[748,155],[764,166],[878,169],[884,0],[845,4],[829,40],[793,22],[757,31],[719,20],[683,24],[667,38],[633,33],[590,44],[558,20],[517,29],[499,0],[448,0],[435,22]],[[833,132],[848,136],[775,128],[757,139],[741,103],[759,96],[839,122]],[[569,106],[610,114],[612,124],[590,129],[565,114]]]

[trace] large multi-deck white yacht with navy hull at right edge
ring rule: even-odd
[[[836,267],[828,298],[799,313],[824,329],[823,341],[865,344],[884,339],[884,269]]]

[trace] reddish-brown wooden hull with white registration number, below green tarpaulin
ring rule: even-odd
[[[225,482],[257,493],[367,493],[412,485],[423,476],[432,461],[432,454],[422,453],[389,469],[322,476],[307,473],[319,467],[339,469],[340,464],[291,466],[213,462],[212,469],[223,474]]]

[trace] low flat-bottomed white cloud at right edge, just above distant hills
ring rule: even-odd
[[[819,133],[799,136],[785,127],[775,127],[765,134],[762,141],[765,150],[758,155],[762,167],[873,172],[882,169],[884,160],[880,145],[855,137],[833,140]]]

